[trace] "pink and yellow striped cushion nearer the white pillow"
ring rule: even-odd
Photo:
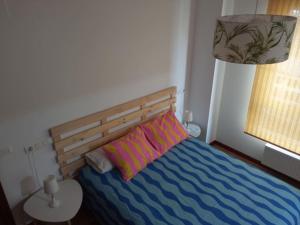
[[[135,128],[129,134],[103,147],[107,157],[120,170],[124,180],[129,181],[160,154],[147,141],[144,132]]]

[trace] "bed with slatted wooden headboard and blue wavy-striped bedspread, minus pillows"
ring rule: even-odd
[[[170,87],[50,129],[62,176],[79,174],[84,203],[105,225],[300,224],[298,189],[197,139],[187,139],[125,182],[85,154],[175,111]]]

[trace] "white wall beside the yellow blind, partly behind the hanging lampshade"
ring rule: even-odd
[[[227,3],[232,4],[231,1]],[[254,13],[255,3],[255,0],[234,0],[234,14]],[[267,0],[259,1],[258,13],[264,13],[266,8]],[[261,160],[265,143],[243,132],[256,66],[225,64],[219,71],[224,73],[224,82],[220,89],[221,99],[216,100],[220,104],[217,123],[214,123],[214,126],[217,124],[216,139]]]

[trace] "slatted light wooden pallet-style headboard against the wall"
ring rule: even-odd
[[[175,111],[175,103],[176,87],[170,87],[51,128],[63,177],[72,177],[85,165],[87,152],[170,109]]]

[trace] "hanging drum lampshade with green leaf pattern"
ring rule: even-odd
[[[214,56],[239,64],[272,64],[288,59],[297,18],[233,15],[217,20]]]

